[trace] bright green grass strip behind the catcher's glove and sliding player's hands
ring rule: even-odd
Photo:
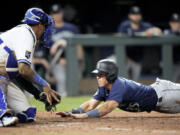
[[[80,97],[65,97],[61,99],[61,103],[57,105],[56,111],[68,111],[73,108],[79,107],[83,102],[91,99],[90,96],[80,96]],[[32,106],[37,108],[37,111],[44,112],[44,104],[35,100],[34,98],[29,99]]]

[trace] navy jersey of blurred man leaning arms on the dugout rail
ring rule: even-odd
[[[118,32],[132,36],[135,35],[136,32],[144,32],[151,27],[153,26],[150,23],[141,21],[139,29],[134,30],[131,28],[130,20],[126,20],[120,24],[118,27]]]

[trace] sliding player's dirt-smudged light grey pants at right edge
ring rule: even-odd
[[[159,97],[156,111],[180,113],[180,84],[159,79],[153,84],[153,87]]]

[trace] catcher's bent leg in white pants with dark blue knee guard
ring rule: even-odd
[[[36,108],[31,107],[24,93],[14,84],[10,83],[7,88],[8,106],[15,112],[19,122],[33,122]]]

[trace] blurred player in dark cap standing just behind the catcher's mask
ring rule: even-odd
[[[79,30],[74,24],[67,23],[64,21],[64,12],[61,5],[53,4],[50,7],[50,15],[55,20],[55,28],[51,41],[51,44],[53,45],[50,49],[50,55],[55,56],[58,49],[65,47],[66,45],[65,38],[72,37],[74,34],[79,34]],[[84,58],[83,58],[83,50],[80,45],[77,46],[77,52],[78,52],[78,60],[80,64],[79,77],[81,77]],[[56,81],[57,92],[63,97],[67,96],[65,53],[61,55],[57,64],[52,69],[52,74]]]

